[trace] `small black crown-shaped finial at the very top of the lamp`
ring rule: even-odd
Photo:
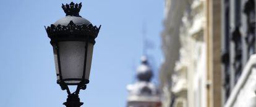
[[[79,12],[80,12],[80,9],[82,8],[82,2],[80,2],[79,4],[70,2],[70,4],[66,4],[66,5],[62,4],[61,7],[66,13],[66,16],[70,15],[75,17],[81,17],[79,15]]]

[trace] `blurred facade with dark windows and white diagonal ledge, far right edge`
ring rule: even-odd
[[[256,106],[255,0],[222,3],[223,101],[225,106]]]

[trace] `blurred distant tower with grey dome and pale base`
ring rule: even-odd
[[[147,57],[143,56],[141,60],[142,63],[137,68],[137,82],[127,85],[127,107],[160,107],[160,94],[151,82],[153,73]]]

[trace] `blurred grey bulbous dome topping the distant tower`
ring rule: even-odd
[[[150,81],[152,76],[153,73],[148,65],[148,60],[145,56],[143,56],[142,64],[137,68],[137,78],[139,81]]]

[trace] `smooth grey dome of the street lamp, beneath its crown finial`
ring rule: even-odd
[[[70,21],[74,22],[75,25],[90,25],[90,23],[91,23],[85,18],[67,15],[66,17],[61,18],[58,21],[56,21],[54,23],[54,25],[55,26],[57,26],[57,25],[67,26],[70,23]]]

